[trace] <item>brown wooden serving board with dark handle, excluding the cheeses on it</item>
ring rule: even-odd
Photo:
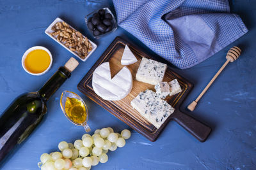
[[[102,62],[109,62],[111,76],[115,76],[122,67],[121,58],[124,52],[125,45],[128,45],[131,51],[134,53],[138,62],[127,66],[132,73],[133,84],[132,90],[128,96],[120,101],[106,101],[102,99],[100,96],[95,94],[92,88],[92,75],[93,71],[100,65]],[[209,133],[211,132],[211,128],[206,125],[198,122],[192,117],[189,117],[185,113],[180,112],[179,106],[182,104],[189,91],[193,88],[193,84],[188,80],[180,76],[179,74],[172,71],[170,66],[166,69],[166,73],[164,74],[163,81],[172,81],[177,78],[180,83],[180,87],[182,88],[182,92],[175,96],[166,97],[166,101],[175,108],[175,111],[170,117],[164,122],[163,125],[159,129],[154,127],[154,125],[150,124],[144,117],[138,113],[138,111],[134,110],[131,106],[131,101],[134,97],[138,96],[140,92],[143,92],[146,89],[154,90],[154,85],[150,85],[148,83],[143,83],[141,81],[136,81],[136,72],[138,67],[140,66],[140,61],[142,57],[146,57],[148,59],[153,59],[148,56],[146,53],[141,52],[141,50],[132,45],[131,43],[125,41],[124,39],[117,37],[115,40],[109,45],[107,50],[102,54],[102,56],[97,60],[92,69],[88,71],[88,73],[84,76],[84,78],[77,85],[77,89],[80,90],[83,94],[88,96],[90,99],[95,101],[95,103],[102,106],[108,110],[111,114],[115,115],[115,117],[119,118],[125,124],[129,125],[135,131],[138,131],[140,134],[148,138],[150,141],[156,141],[157,137],[163,131],[164,127],[168,124],[169,120],[175,120],[182,127],[184,127],[188,132],[193,134],[195,138],[199,141],[205,141]],[[153,59],[156,60],[156,59]],[[168,64],[168,63],[166,63]]]

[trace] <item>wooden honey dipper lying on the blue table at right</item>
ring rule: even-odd
[[[200,95],[196,98],[195,101],[190,103],[188,105],[188,110],[193,111],[195,110],[196,104],[201,99],[201,97],[205,94],[205,92],[209,89],[209,87],[212,85],[213,81],[219,76],[221,71],[227,66],[228,62],[234,62],[234,60],[237,60],[238,57],[241,55],[241,49],[237,46],[234,46],[228,50],[228,53],[226,55],[227,61],[223,64],[223,66],[219,69],[219,71],[215,74],[215,76],[212,78],[212,80],[208,83],[208,85],[204,88],[204,90],[200,93]]]

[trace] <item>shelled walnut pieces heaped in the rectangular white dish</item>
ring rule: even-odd
[[[51,29],[53,31],[51,36],[67,46],[72,52],[77,53],[81,59],[85,59],[88,52],[92,51],[92,44],[88,38],[70,27],[66,22],[57,22]]]

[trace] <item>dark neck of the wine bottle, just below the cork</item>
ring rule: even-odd
[[[44,86],[38,90],[38,94],[47,101],[70,76],[71,73],[65,67],[60,67]]]

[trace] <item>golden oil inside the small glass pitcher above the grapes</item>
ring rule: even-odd
[[[67,117],[76,124],[84,124],[86,120],[86,107],[79,99],[67,97],[65,102]]]

